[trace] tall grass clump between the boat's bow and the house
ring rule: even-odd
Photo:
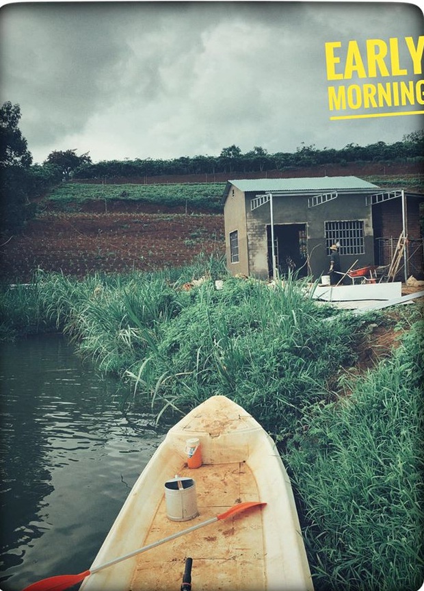
[[[222,290],[209,281],[185,296],[157,349],[127,372],[137,397],[159,410],[185,412],[223,394],[287,437],[305,407],[328,397],[328,375],[352,362],[352,327],[322,323],[301,282],[270,288],[228,277]]]

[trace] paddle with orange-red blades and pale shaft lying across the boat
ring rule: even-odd
[[[250,509],[250,507],[258,507],[259,505],[266,505],[267,503],[261,503],[261,501],[248,501],[247,503],[239,503],[238,505],[234,505],[230,507],[226,512],[217,515],[216,517],[211,517],[206,521],[202,521],[202,523],[198,523],[197,525],[192,525],[191,527],[187,527],[187,529],[183,529],[182,531],[177,531],[176,533],[172,533],[171,536],[167,538],[162,538],[157,542],[153,542],[152,544],[148,544],[147,546],[143,546],[129,554],[125,554],[124,556],[120,556],[111,560],[110,562],[105,562],[105,564],[101,564],[100,566],[95,566],[91,570],[84,570],[83,573],[79,573],[78,575],[57,575],[57,577],[49,577],[48,579],[42,579],[41,581],[37,581],[36,583],[32,583],[28,587],[25,587],[23,591],[62,591],[71,587],[72,585],[76,585],[77,583],[81,583],[85,577],[88,575],[93,575],[94,573],[98,573],[99,570],[103,570],[103,568],[107,568],[108,566],[112,566],[112,564],[116,564],[117,562],[122,562],[122,560],[127,560],[127,558],[131,558],[136,554],[141,554],[146,550],[150,550],[151,548],[155,548],[160,544],[164,544],[165,542],[169,542],[170,540],[174,540],[175,538],[179,538],[180,536],[184,536],[185,533],[189,533],[189,531],[194,531],[195,529],[200,529],[200,527],[204,527],[205,525],[209,525],[210,523],[215,523],[215,521],[219,521],[222,519],[226,519],[227,517],[231,517],[233,515],[237,515],[237,513],[241,513],[242,511],[246,511]]]

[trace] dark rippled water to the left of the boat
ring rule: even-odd
[[[1,345],[0,588],[90,567],[163,433],[62,336]]]

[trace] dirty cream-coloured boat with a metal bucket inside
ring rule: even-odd
[[[187,447],[193,441],[196,448]],[[193,450],[197,468],[189,467]],[[261,506],[244,510],[243,503]],[[313,591],[291,483],[276,446],[248,412],[223,396],[207,399],[168,431],[90,572],[145,546],[147,551],[90,574],[80,590],[179,590],[188,558],[196,591]]]

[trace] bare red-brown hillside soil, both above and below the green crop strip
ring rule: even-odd
[[[417,177],[419,163],[326,165],[269,171],[268,173],[221,173],[185,177],[112,179],[121,183],[224,181],[252,177],[310,177],[390,175]],[[408,187],[409,190],[414,190]],[[182,266],[196,255],[224,254],[224,216],[196,210],[165,208],[134,202],[85,203],[78,213],[47,210],[28,223],[19,236],[3,236],[0,247],[1,277],[6,281],[31,281],[32,272],[62,271],[82,277],[94,271],[151,271]]]

